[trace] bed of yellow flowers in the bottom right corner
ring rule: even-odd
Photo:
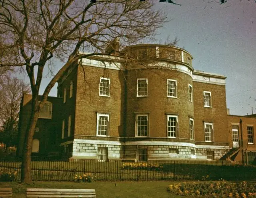
[[[255,198],[256,183],[252,182],[182,182],[171,184],[167,191],[188,197]]]

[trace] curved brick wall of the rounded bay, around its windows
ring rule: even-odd
[[[148,96],[137,97],[137,79],[147,79]],[[176,81],[176,97],[167,96],[167,80]],[[167,115],[178,116],[177,138],[190,139],[189,118],[194,106],[188,98],[192,77],[172,69],[133,69],[127,74],[126,137],[136,137],[136,115],[148,114],[148,137],[167,137]],[[143,138],[142,138],[143,139]]]

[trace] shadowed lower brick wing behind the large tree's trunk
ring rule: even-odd
[[[31,113],[32,95],[24,94],[20,103],[20,118],[18,125],[19,145],[17,155],[22,156],[25,132]],[[40,97],[39,97],[40,100]],[[41,110],[33,138],[32,154],[44,156],[58,155],[61,137],[57,131],[61,130],[59,113],[62,108],[62,99],[48,97],[48,101]]]

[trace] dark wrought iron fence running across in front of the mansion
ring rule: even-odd
[[[255,180],[256,166],[224,160],[49,160],[31,163],[33,181],[74,181],[75,177],[91,173],[92,180]],[[17,171],[20,180],[21,162],[0,160],[0,172]]]

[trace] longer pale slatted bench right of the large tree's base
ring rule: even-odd
[[[96,198],[95,189],[27,188],[26,198]]]

